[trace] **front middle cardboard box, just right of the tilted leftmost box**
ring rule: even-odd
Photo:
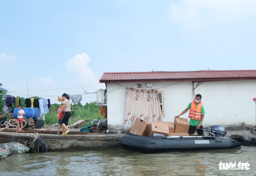
[[[152,122],[149,129],[148,136],[168,136],[169,135],[169,126],[164,123]]]

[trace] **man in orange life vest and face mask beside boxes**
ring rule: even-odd
[[[203,135],[203,118],[204,118],[204,107],[203,103],[201,102],[202,95],[197,94],[195,99],[188,104],[188,107],[182,111],[180,115],[175,116],[176,118],[179,118],[181,115],[185,114],[189,109],[189,136],[193,136],[195,133],[195,130],[198,134],[198,136]]]

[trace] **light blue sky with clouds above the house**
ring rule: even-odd
[[[0,0],[0,83],[11,95],[82,94],[104,72],[256,65],[254,0]],[[28,89],[28,90],[27,90]]]

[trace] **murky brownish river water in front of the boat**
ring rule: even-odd
[[[248,146],[156,154],[137,153],[117,147],[88,151],[13,154],[5,160],[0,160],[0,175],[256,175],[255,159],[256,147]],[[224,167],[220,168],[220,165]],[[244,165],[247,167],[241,167]]]

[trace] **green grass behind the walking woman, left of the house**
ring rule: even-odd
[[[44,123],[47,125],[58,123],[59,118],[56,117],[56,115],[57,115],[56,111],[45,114]],[[80,110],[74,109],[71,111],[70,122],[74,123],[78,120],[86,120],[87,123],[85,125],[87,125],[87,124],[92,124],[93,119],[103,119],[103,118],[104,116],[100,115],[100,109],[83,107],[83,108],[80,108]]]

